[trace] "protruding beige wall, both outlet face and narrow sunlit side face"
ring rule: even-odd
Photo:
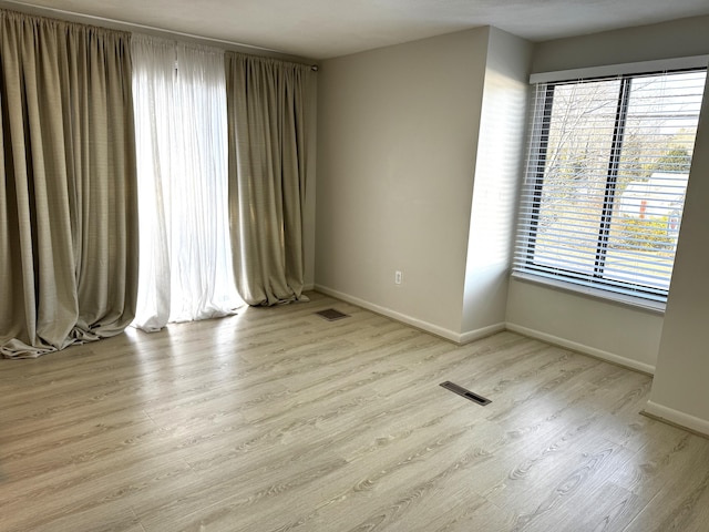
[[[504,328],[531,53],[479,28],[323,63],[319,289],[456,341]]]

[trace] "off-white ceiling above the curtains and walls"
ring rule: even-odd
[[[494,25],[543,41],[709,14],[708,0],[3,0],[327,59]],[[43,12],[43,11],[42,11]],[[101,20],[93,20],[101,23]]]

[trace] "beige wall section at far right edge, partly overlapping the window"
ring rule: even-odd
[[[706,34],[706,33],[705,33]],[[709,85],[646,411],[709,434]]]

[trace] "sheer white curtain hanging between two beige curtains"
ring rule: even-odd
[[[133,325],[232,314],[224,53],[133,35],[140,278]]]

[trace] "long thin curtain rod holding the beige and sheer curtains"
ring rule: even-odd
[[[17,6],[20,8],[23,8],[24,10],[31,10],[31,11],[35,11],[38,14],[41,13],[55,13],[56,16],[59,16],[60,18],[71,18],[71,19],[78,19],[78,21],[94,21],[94,23],[103,23],[103,24],[109,24],[114,27],[114,29],[123,29],[126,31],[135,31],[135,30],[143,30],[146,32],[153,32],[153,33],[158,33],[158,34],[163,34],[163,35],[175,35],[175,37],[181,37],[183,39],[191,39],[191,40],[195,40],[195,41],[202,41],[202,42],[210,42],[210,43],[215,43],[215,44],[222,44],[225,47],[234,47],[234,48],[239,48],[239,49],[248,49],[248,50],[254,50],[257,52],[266,52],[269,55],[278,55],[280,58],[282,57],[287,57],[290,59],[295,59],[298,60],[297,62],[302,63],[304,62],[304,58],[299,58],[297,55],[292,55],[286,52],[281,52],[279,50],[273,50],[270,48],[263,48],[263,47],[256,47],[253,44],[245,44],[243,42],[235,42],[235,41],[227,41],[226,39],[216,39],[213,37],[204,37],[204,35],[196,35],[194,33],[187,33],[187,32],[183,32],[183,31],[176,31],[176,30],[166,30],[163,28],[157,28],[154,25],[147,25],[147,24],[141,24],[137,22],[127,22],[127,21],[123,21],[123,20],[116,20],[116,19],[109,19],[106,17],[97,17],[95,14],[84,14],[84,13],[78,13],[75,11],[68,11],[64,9],[58,9],[58,8],[49,8],[45,6],[35,6],[32,3],[28,3],[28,2],[22,2],[19,0],[0,0],[0,7],[2,6]],[[318,71],[318,65],[317,64],[311,64],[311,63],[306,63],[310,65],[310,69],[314,72]]]

